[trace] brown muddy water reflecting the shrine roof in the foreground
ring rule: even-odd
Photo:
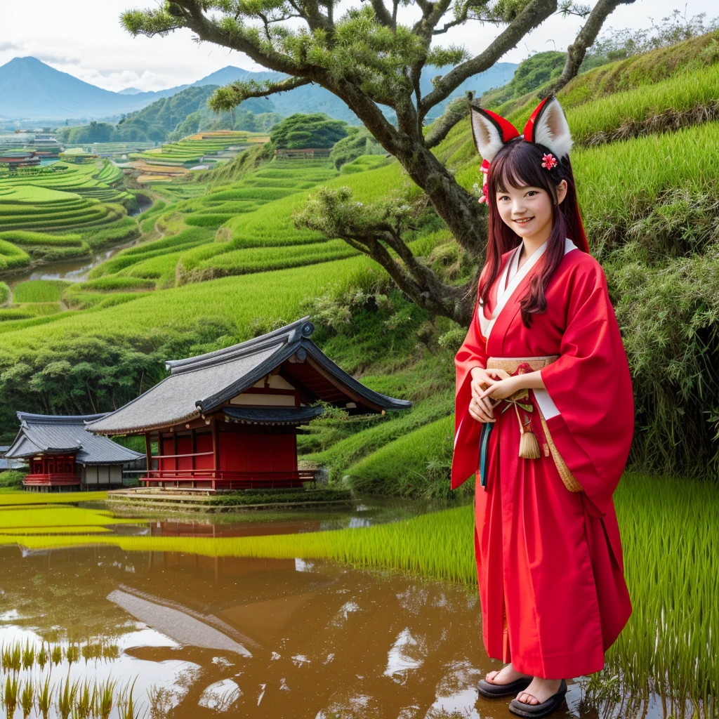
[[[78,646],[55,677],[137,677],[140,715],[508,716],[507,701],[477,696],[498,663],[482,649],[476,594],[462,587],[300,559],[114,548],[7,547],[0,567],[0,644]],[[90,646],[104,651],[86,662]],[[575,684],[569,707],[579,695]]]

